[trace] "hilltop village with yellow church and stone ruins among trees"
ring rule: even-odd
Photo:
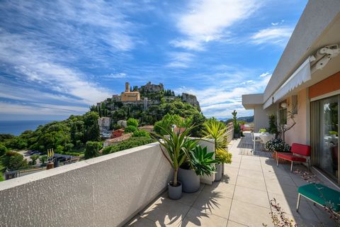
[[[164,89],[163,84],[152,84],[151,82],[141,87],[130,87],[130,83],[125,82],[124,92],[113,94],[112,98],[98,102],[96,106],[91,106],[91,111],[98,112],[100,116],[98,125],[101,137],[115,138],[115,142],[118,142],[129,138],[121,129],[127,126],[128,118],[138,119],[140,129],[152,131],[154,123],[160,121],[167,114],[164,112],[164,108],[159,108],[159,105],[162,104],[177,104],[179,109],[181,109],[179,104],[190,104],[191,108],[200,112],[200,104],[196,96],[187,93],[176,96],[174,91]]]

